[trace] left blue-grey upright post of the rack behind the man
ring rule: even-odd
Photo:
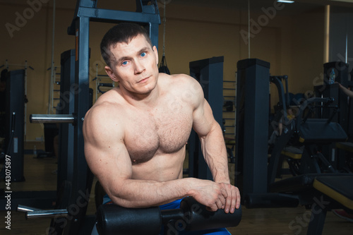
[[[77,122],[74,128],[74,150],[73,150],[73,183],[71,194],[71,207],[75,207],[69,214],[73,219],[68,221],[69,234],[77,235],[83,225],[87,211],[90,185],[88,179],[88,165],[85,161],[83,149],[83,118],[89,108],[89,27],[90,18],[79,17],[76,19],[76,57],[75,57],[75,111]],[[76,206],[73,206],[76,205]]]

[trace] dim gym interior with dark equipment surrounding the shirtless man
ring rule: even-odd
[[[1,234],[352,234],[353,1],[0,0],[0,11]],[[83,123],[119,88],[100,42],[123,22],[147,30],[161,73],[201,85],[240,191],[234,214],[191,197],[174,210],[102,205]],[[183,178],[213,181],[196,131],[185,148]]]

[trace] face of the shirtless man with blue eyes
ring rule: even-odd
[[[105,67],[112,80],[119,86],[136,93],[148,94],[155,88],[158,79],[157,48],[151,48],[143,35],[133,37],[126,44],[121,42],[111,47],[111,68]]]

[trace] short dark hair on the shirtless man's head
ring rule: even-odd
[[[100,42],[100,53],[102,54],[105,63],[110,67],[112,62],[110,48],[112,46],[119,42],[128,43],[138,35],[143,35],[152,47],[150,35],[148,35],[147,30],[136,23],[119,23],[108,30],[104,35],[102,42]]]

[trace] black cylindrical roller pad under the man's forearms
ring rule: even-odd
[[[233,214],[224,210],[210,212],[191,197],[181,200],[180,209],[142,209],[119,205],[101,205],[97,211],[97,231],[100,235],[157,235],[164,225],[164,234],[236,227],[241,221],[241,207]]]

